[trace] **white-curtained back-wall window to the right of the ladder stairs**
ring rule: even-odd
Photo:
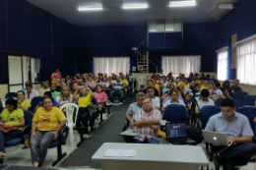
[[[189,74],[190,72],[199,72],[201,66],[201,56],[171,56],[161,57],[161,68],[167,75],[172,72],[174,75],[179,73]]]

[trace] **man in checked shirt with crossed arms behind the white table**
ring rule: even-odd
[[[150,97],[143,98],[142,102],[142,109],[138,110],[135,115],[135,133],[138,136],[134,140],[137,143],[159,144],[157,133],[160,129],[160,111],[153,108],[153,102]]]

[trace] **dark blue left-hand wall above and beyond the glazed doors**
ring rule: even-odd
[[[51,55],[51,29],[53,24],[54,55]],[[26,0],[0,1],[0,51],[42,57],[42,79],[50,78],[55,68],[62,75],[75,73],[76,27],[46,13]],[[1,75],[7,75],[6,54],[0,55]],[[4,57],[4,58],[2,58]],[[1,76],[2,78],[2,76]],[[7,84],[8,79],[0,79]]]

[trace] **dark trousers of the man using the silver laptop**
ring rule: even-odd
[[[223,147],[213,147],[214,152],[219,152]],[[234,170],[235,166],[246,165],[249,159],[256,154],[256,145],[252,142],[231,146],[220,153],[224,158],[224,170]]]

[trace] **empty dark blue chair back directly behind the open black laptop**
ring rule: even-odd
[[[170,104],[165,108],[163,120],[171,123],[187,123],[187,110],[183,105]]]

